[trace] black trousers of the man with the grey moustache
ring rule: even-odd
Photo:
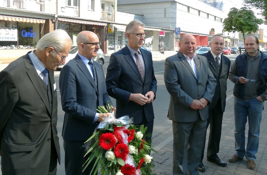
[[[219,98],[216,103],[216,106],[213,109],[209,110],[209,118],[207,119],[207,127],[202,149],[201,161],[204,158],[207,128],[209,125],[210,125],[210,133],[209,133],[209,141],[207,147],[207,157],[211,159],[215,159],[218,157],[217,153],[220,150],[220,141],[222,133],[222,116],[223,112],[222,112],[221,98]]]

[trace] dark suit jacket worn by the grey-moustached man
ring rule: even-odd
[[[215,88],[215,93],[214,97],[212,99],[211,104],[209,105],[209,110],[213,109],[216,104],[219,97],[219,93],[221,94],[221,112],[224,112],[225,109],[225,100],[226,100],[226,90],[227,90],[227,79],[229,75],[229,70],[231,66],[231,61],[229,58],[227,58],[224,55],[221,55],[221,67],[222,71],[221,73],[219,72],[219,69],[217,67],[217,64],[214,60],[214,57],[212,56],[211,51],[208,51],[207,53],[200,54],[202,56],[205,56],[208,60],[209,67],[216,79],[216,88]]]

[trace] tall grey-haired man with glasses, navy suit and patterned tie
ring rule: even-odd
[[[116,118],[134,117],[134,125],[148,127],[152,135],[154,111],[152,101],[157,91],[157,80],[151,52],[140,49],[144,41],[144,24],[138,20],[126,26],[128,44],[110,56],[107,67],[107,92],[116,99]],[[145,138],[151,140],[151,136]]]

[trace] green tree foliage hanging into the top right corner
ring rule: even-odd
[[[262,15],[265,19],[264,23],[267,24],[267,2],[266,0],[244,0],[244,5],[249,8],[256,8],[260,11],[260,15]]]

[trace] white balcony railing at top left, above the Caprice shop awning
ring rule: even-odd
[[[1,3],[0,7],[55,13],[55,7],[51,6],[52,4],[52,2],[47,0],[3,0],[3,4]]]

